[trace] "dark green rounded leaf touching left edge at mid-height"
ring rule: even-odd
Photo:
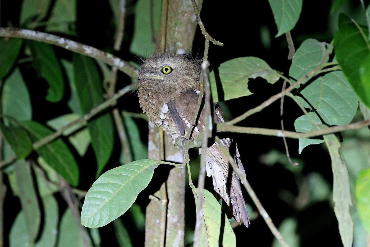
[[[5,126],[0,121],[0,131],[18,159],[24,159],[32,152],[31,139],[23,128],[12,124]]]

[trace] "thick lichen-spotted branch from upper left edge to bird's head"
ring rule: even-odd
[[[110,66],[117,67],[119,70],[134,78],[137,76],[138,70],[129,64],[127,61],[106,53],[105,51],[98,50],[95,47],[78,43],[53,34],[43,33],[28,29],[19,29],[13,27],[0,27],[0,37],[14,37],[29,40],[37,40],[55,46],[63,47],[66,50],[74,51],[85,56],[98,59]]]

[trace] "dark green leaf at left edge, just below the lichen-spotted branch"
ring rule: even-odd
[[[22,39],[0,38],[0,79],[4,78],[13,67],[22,43]]]

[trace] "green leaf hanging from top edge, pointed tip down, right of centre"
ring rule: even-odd
[[[292,30],[299,19],[302,11],[303,0],[269,0],[272,13],[274,14],[279,37]]]

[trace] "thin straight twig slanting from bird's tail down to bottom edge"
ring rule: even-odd
[[[276,237],[276,239],[279,241],[279,243],[282,246],[289,247],[289,244],[286,243],[286,241],[284,240],[284,237],[279,232],[279,230],[277,230],[275,224],[272,222],[272,219],[270,218],[269,214],[266,212],[265,208],[263,208],[262,203],[260,202],[256,193],[254,192],[254,190],[252,189],[252,187],[248,183],[247,178],[243,175],[242,171],[239,170],[239,167],[235,164],[235,160],[233,159],[233,157],[231,157],[230,153],[228,152],[228,150],[226,150],[225,146],[223,146],[223,144],[222,144],[222,142],[221,142],[221,140],[218,136],[215,137],[215,141],[221,147],[222,153],[225,154],[225,156],[228,158],[229,163],[230,163],[231,167],[234,169],[235,173],[240,177],[240,180],[242,180],[243,186],[247,190],[250,198],[252,198],[253,202],[255,203],[256,207],[258,208],[259,213],[261,214],[261,216],[265,220],[267,226],[270,228],[270,231],[272,232],[272,234]]]

